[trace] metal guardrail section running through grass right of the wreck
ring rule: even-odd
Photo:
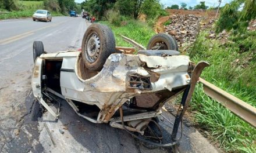
[[[256,128],[256,108],[200,78],[204,93]]]

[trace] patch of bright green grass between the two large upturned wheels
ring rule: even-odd
[[[155,34],[154,30],[149,27],[147,23],[136,20],[128,20],[126,21],[126,25],[121,25],[120,27],[116,27],[115,25],[110,24],[108,21],[99,21],[99,23],[106,24],[111,27],[115,35],[116,46],[131,46],[130,43],[123,41],[120,35],[124,35],[125,37],[133,39],[143,46],[147,46],[149,39]]]

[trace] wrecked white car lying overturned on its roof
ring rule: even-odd
[[[195,83],[208,64],[194,65],[188,56],[180,55],[175,51],[175,39],[168,34],[155,35],[148,50],[133,54],[134,48],[115,46],[108,27],[92,24],[82,44],[81,52],[45,53],[42,42],[34,42],[31,84],[38,101],[58,118],[59,113],[45,103],[45,99],[51,100],[55,94],[88,121],[109,122],[115,128],[143,135],[148,123],[161,114],[163,104],[183,92],[173,127],[173,142],[159,145],[175,144],[177,128]]]

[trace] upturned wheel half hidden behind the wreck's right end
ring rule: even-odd
[[[157,48],[159,46],[159,48]],[[148,50],[177,50],[179,51],[179,46],[177,41],[169,34],[159,33],[151,37],[147,45]]]

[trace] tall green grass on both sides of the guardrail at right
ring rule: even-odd
[[[208,32],[198,35],[190,48],[191,60],[208,61],[201,77],[214,83],[256,107],[256,32],[243,36],[232,36],[230,42],[222,45],[218,40],[208,39]],[[228,152],[255,152],[256,129],[242,121],[232,112],[203,93],[202,86],[195,90],[191,110],[197,112],[195,121],[208,130],[220,147]]]

